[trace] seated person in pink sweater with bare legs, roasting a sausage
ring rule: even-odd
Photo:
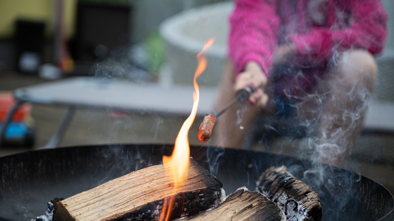
[[[249,104],[220,116],[218,146],[242,147],[259,116],[304,122],[315,160],[343,166],[377,78],[387,14],[378,0],[235,0],[219,111],[245,87]],[[259,126],[259,125],[258,125]],[[263,125],[260,125],[262,127]]]

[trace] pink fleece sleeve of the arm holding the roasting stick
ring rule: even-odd
[[[230,16],[229,56],[237,74],[253,61],[269,75],[279,24],[274,0],[235,1]]]

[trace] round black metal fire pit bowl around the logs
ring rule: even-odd
[[[30,220],[53,198],[67,198],[150,165],[172,145],[102,145],[45,149],[0,158],[0,220]],[[323,220],[393,220],[394,198],[380,184],[346,170],[292,157],[191,147],[191,156],[223,182],[226,194],[255,190],[272,165],[288,170],[319,193]]]

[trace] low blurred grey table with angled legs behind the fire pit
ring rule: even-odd
[[[192,83],[192,82],[191,82]],[[198,116],[212,113],[215,88],[200,88]],[[24,102],[63,105],[68,107],[58,130],[46,148],[58,145],[76,108],[93,107],[119,111],[188,116],[193,105],[194,88],[174,85],[164,88],[157,84],[136,84],[127,80],[96,77],[74,77],[23,87],[14,91],[16,104],[10,109],[0,131],[0,141],[17,107]],[[0,143],[1,144],[1,143]]]

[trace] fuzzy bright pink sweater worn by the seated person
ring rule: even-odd
[[[387,14],[379,0],[235,0],[229,57],[241,72],[249,61],[269,75],[278,44],[293,42],[298,62],[328,61],[334,51],[382,50]]]

